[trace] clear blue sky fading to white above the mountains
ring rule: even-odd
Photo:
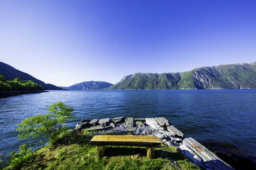
[[[45,83],[256,60],[256,1],[0,1],[0,61]]]

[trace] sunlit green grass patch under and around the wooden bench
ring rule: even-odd
[[[174,146],[156,148],[155,159],[147,159],[143,147],[108,146],[101,159],[97,146],[90,145],[95,132],[65,132],[51,145],[22,162],[11,161],[5,169],[199,169]]]

